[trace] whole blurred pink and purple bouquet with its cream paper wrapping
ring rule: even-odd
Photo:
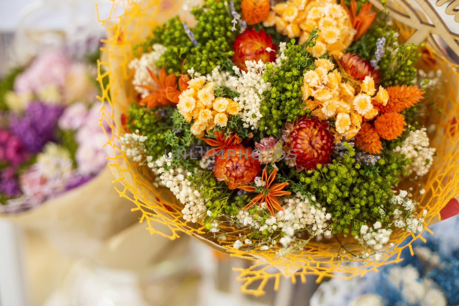
[[[106,161],[112,132],[100,120],[103,102],[97,100],[99,39],[41,48],[2,79],[0,212],[58,250],[117,266],[125,260],[106,242],[129,235],[123,230],[138,216],[118,196]]]

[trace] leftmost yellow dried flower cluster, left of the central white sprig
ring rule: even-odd
[[[222,97],[215,97],[215,83],[207,83],[205,77],[193,78],[188,82],[188,89],[179,96],[177,108],[187,122],[194,120],[190,130],[196,137],[204,136],[205,130],[215,126],[225,127],[228,115],[237,115],[241,111],[239,103]]]

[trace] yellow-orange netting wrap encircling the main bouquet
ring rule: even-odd
[[[361,246],[356,244],[353,238],[342,236],[321,242],[311,241],[307,249],[283,256],[277,254],[280,248],[250,252],[235,250],[232,246],[239,236],[227,234],[225,241],[217,241],[207,234],[202,224],[185,223],[181,213],[183,205],[175,200],[168,190],[155,189],[151,184],[151,173],[123,154],[118,145],[121,133],[118,123],[120,115],[136,97],[131,84],[134,72],[128,69],[129,61],[133,58],[132,46],[145,39],[153,26],[174,16],[180,9],[180,1],[144,0],[139,4],[132,3],[121,16],[114,17],[112,12],[111,17],[101,21],[108,29],[108,39],[103,49],[108,56],[106,60],[101,60],[99,65],[108,67],[108,71],[99,75],[98,80],[102,87],[100,99],[112,106],[110,111],[103,112],[103,119],[110,122],[114,131],[106,144],[113,147],[116,156],[111,158],[110,164],[117,178],[115,181],[125,185],[123,190],[118,190],[120,195],[135,203],[136,208],[133,210],[142,212],[141,221],[148,224],[151,233],[161,234],[170,239],[176,239],[185,233],[216,250],[254,261],[250,268],[237,269],[240,271],[239,279],[244,282],[242,291],[253,295],[262,295],[270,279],[274,279],[274,289],[277,289],[282,275],[291,277],[292,281],[298,276],[303,282],[308,274],[317,275],[318,281],[324,277],[333,277],[333,272],[347,273],[344,277],[351,278],[362,276],[370,270],[377,270],[389,262],[400,261],[402,249],[408,247],[411,250],[411,242],[402,246],[402,241],[408,236],[413,240],[420,238],[420,234],[408,234],[404,231],[393,233],[390,242],[394,243],[394,247],[387,247],[379,261],[367,259],[362,261],[361,265],[347,262],[352,258],[351,253],[360,254]],[[437,89],[437,92],[430,94],[437,98],[436,107],[442,112],[438,114],[435,109],[431,111],[430,120],[438,123],[436,135],[433,135],[432,140],[432,145],[437,149],[437,157],[434,159],[432,171],[425,176],[422,184],[426,192],[420,199],[416,199],[421,202],[420,211],[428,211],[425,217],[426,224],[437,221],[441,208],[448,200],[459,195],[459,120],[453,121],[454,117],[459,118],[458,67],[432,54],[443,76],[438,87],[441,90]],[[106,76],[110,78],[110,83],[103,86],[102,79]],[[415,192],[419,187],[413,184],[413,188]],[[156,230],[158,223],[166,225],[169,231]],[[232,230],[227,229],[227,232]]]

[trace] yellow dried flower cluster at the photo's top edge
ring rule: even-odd
[[[318,28],[319,39],[311,48],[314,57],[325,52],[340,56],[351,44],[356,33],[349,15],[334,0],[287,0],[271,7],[265,26],[276,26],[279,33],[290,38],[299,37],[301,45]]]

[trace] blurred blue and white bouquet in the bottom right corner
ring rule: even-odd
[[[312,306],[446,306],[459,304],[459,218],[452,217],[430,227],[426,243],[406,249],[403,261],[381,267],[364,278],[333,279],[320,285]]]

